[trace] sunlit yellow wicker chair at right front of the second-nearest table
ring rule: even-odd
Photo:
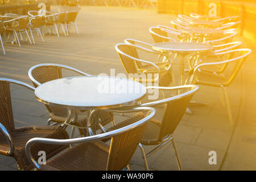
[[[195,69],[193,69],[191,80],[189,81],[199,85],[219,88],[222,104],[226,106],[228,110],[229,121],[232,125],[234,122],[226,88],[232,83],[234,77],[236,77],[238,71],[240,71],[243,61],[245,61],[250,53],[251,49],[235,49],[232,51],[216,53],[216,55],[228,54],[229,59],[224,61],[214,61],[212,63],[205,63],[203,61],[202,64],[197,65]],[[222,91],[225,94],[225,99]]]

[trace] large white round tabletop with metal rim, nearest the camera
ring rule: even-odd
[[[44,104],[81,110],[137,104],[145,94],[139,82],[109,76],[60,78],[35,89],[36,98]]]

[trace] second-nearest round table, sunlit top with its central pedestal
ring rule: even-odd
[[[152,48],[162,52],[177,53],[180,57],[180,85],[183,85],[185,56],[210,51],[213,46],[193,42],[163,42],[153,44]]]

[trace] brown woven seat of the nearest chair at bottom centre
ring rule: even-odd
[[[81,143],[42,165],[40,171],[105,171],[109,146],[104,142]]]

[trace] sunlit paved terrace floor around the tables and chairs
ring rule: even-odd
[[[123,9],[119,7],[82,7],[77,24],[69,36],[60,33],[44,36],[42,43],[5,45],[7,55],[0,56],[0,77],[14,78],[31,84],[28,69],[40,63],[65,64],[92,75],[125,73],[114,46],[125,38],[153,43],[148,28],[163,24],[170,26],[174,15],[156,14],[153,10]],[[242,47],[254,48],[248,40]],[[255,170],[256,169],[256,62],[255,54],[248,57],[236,79],[228,88],[235,127],[221,105],[218,89],[200,86],[193,100],[207,102],[207,106],[192,107],[192,115],[185,114],[175,131],[177,148],[185,170]],[[173,68],[174,71],[178,69]],[[15,126],[45,125],[49,114],[34,93],[13,86]],[[158,112],[161,109],[158,108]],[[149,151],[152,147],[146,147]],[[217,152],[217,164],[208,163],[209,151]],[[152,170],[177,170],[171,143],[148,158]],[[131,169],[143,169],[141,153],[137,150],[131,159]],[[0,156],[1,170],[17,170],[15,160]]]

